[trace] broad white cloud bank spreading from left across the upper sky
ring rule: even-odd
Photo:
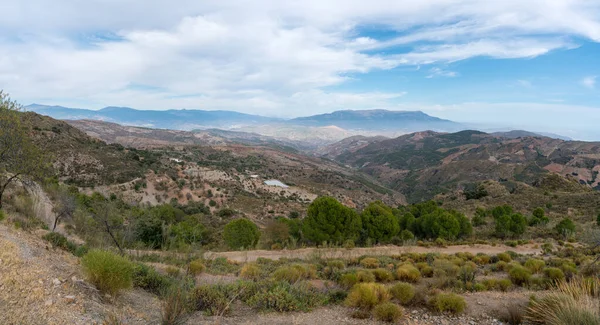
[[[92,107],[385,106],[403,91],[331,89],[399,66],[454,77],[427,65],[600,42],[600,3],[584,0],[8,0],[0,12],[0,85],[16,99]]]

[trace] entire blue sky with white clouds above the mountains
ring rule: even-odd
[[[600,140],[598,0],[2,0],[22,104],[421,110]]]

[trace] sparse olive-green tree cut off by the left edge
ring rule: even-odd
[[[0,91],[0,208],[7,187],[14,181],[27,183],[47,172],[42,152],[30,138],[28,113]]]

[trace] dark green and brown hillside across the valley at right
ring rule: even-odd
[[[548,172],[600,188],[600,143],[594,142],[427,131],[343,147],[332,145],[321,154],[374,176],[413,202],[488,179],[534,184]]]

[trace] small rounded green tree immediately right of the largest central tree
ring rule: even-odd
[[[392,209],[381,201],[371,202],[361,214],[367,236],[377,243],[387,242],[400,231]]]

